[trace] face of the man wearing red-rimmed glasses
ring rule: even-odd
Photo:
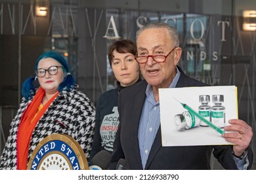
[[[138,56],[163,55],[166,56],[173,50],[173,42],[166,29],[146,29],[137,38]],[[175,48],[166,60],[157,63],[148,57],[146,63],[140,63],[143,78],[153,88],[168,88],[176,75],[176,65],[181,56],[181,48]]]

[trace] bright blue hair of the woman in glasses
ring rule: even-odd
[[[37,69],[39,61],[45,58],[53,58],[63,66],[62,70],[65,77],[63,82],[60,83],[60,85],[58,86],[58,92],[72,90],[75,86],[75,78],[74,76],[70,75],[70,66],[68,65],[68,61],[66,61],[66,59],[57,52],[45,52],[41,54],[39,58],[37,58],[37,61],[35,62],[35,70]],[[38,88],[38,85],[35,84],[35,80],[36,77],[30,77],[26,79],[25,82],[22,84],[22,95],[23,97],[25,97],[25,99],[29,99],[35,94],[35,91]]]

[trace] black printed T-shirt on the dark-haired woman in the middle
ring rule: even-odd
[[[139,82],[141,78],[137,82]],[[125,88],[116,82],[117,88],[102,93],[96,105],[95,135],[90,158],[100,150],[106,150],[110,154],[113,152],[114,139],[119,124],[119,114],[117,111],[119,92]]]

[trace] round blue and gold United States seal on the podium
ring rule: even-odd
[[[32,152],[28,170],[89,170],[83,149],[66,134],[52,134]]]

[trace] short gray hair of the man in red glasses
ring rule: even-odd
[[[149,24],[144,25],[144,27],[140,27],[140,29],[136,33],[136,41],[140,35],[140,33],[146,29],[167,29],[169,36],[171,38],[171,41],[173,41],[173,46],[178,47],[179,46],[179,33],[175,27],[172,27],[171,25],[164,23],[164,22],[150,22]]]

